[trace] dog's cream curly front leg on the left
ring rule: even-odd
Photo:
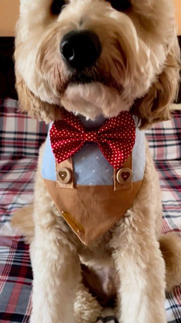
[[[36,228],[31,323],[73,323],[73,304],[80,265],[65,233]]]

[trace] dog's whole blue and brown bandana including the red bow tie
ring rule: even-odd
[[[106,120],[100,116],[91,121],[82,116],[75,117],[69,113],[65,115],[63,120],[50,125],[51,130],[43,153],[42,177],[60,216],[78,238],[88,245],[121,219],[140,189],[145,169],[144,132],[135,127],[137,120],[134,121],[132,116],[125,112],[119,116],[120,122],[117,123],[120,127],[113,124],[113,128],[110,126],[109,129],[106,127],[110,125],[109,121],[112,123],[115,120],[114,118]],[[75,121],[75,124],[70,124],[70,119]],[[121,122],[123,124],[120,125]],[[128,132],[128,128],[131,132]],[[65,132],[66,137],[62,132]],[[88,136],[94,141],[89,141]],[[112,146],[107,141],[111,142]],[[58,149],[60,142],[61,148]],[[68,147],[70,142],[73,143],[73,149],[72,146]],[[130,145],[126,145],[127,142],[130,142]],[[115,148],[116,145],[118,147]],[[119,154],[124,154],[124,148],[128,147],[128,157],[117,158],[118,164],[116,158],[113,159],[116,162],[113,167],[110,163],[111,158],[108,157],[108,161],[105,157],[106,150],[101,149],[103,146],[105,149],[111,149],[111,158],[114,154],[121,157]],[[67,154],[69,157],[65,159]]]

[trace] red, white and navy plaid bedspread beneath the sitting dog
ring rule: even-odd
[[[21,144],[18,147],[15,139],[14,144],[12,141],[16,136],[19,137],[19,128],[15,131],[18,122],[16,118],[19,118],[16,102],[12,100],[0,101],[0,113],[2,112],[2,107],[4,111],[3,118],[11,111],[11,118],[14,118],[14,126],[11,126],[9,130],[5,130],[5,124],[3,126],[1,121],[1,126],[2,128],[4,127],[4,129],[0,129],[3,143],[2,151],[4,151],[4,154],[0,155],[0,322],[28,322],[31,312],[32,292],[29,247],[25,244],[23,237],[19,236],[11,228],[9,222],[16,209],[32,201],[34,174],[37,165],[37,151],[34,148],[37,140],[40,143],[44,139],[46,127],[41,128],[40,138],[39,134],[35,133],[37,131],[37,124],[34,127],[32,126],[34,130],[31,128],[31,140],[28,137],[29,130],[23,135],[23,129],[21,129]],[[8,116],[6,116],[7,118]],[[28,129],[26,128],[28,127],[27,117],[24,116],[24,118],[26,119],[26,122],[24,121],[24,128]],[[7,123],[7,120],[4,120],[4,122]],[[39,127],[42,127],[42,125]],[[155,137],[155,133],[153,132],[152,134]],[[152,145],[153,147],[152,134],[148,132],[150,146]],[[26,140],[23,136],[26,136]],[[5,146],[8,142],[9,147],[6,147],[6,149],[3,147],[3,140],[5,141]],[[32,140],[33,142],[35,141],[35,144],[33,144]],[[27,151],[22,150],[22,141],[23,144],[27,142]],[[164,146],[164,142],[162,145]],[[22,152],[17,153],[19,150]],[[179,234],[181,232],[181,158],[156,160],[155,166],[159,173],[162,189],[163,232],[175,231]],[[173,293],[166,295],[165,309],[169,323],[181,322],[180,286],[175,287]],[[98,321],[99,323],[112,323],[116,322],[116,319],[108,316],[106,318],[100,317]]]

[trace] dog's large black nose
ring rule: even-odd
[[[60,44],[62,58],[74,69],[91,67],[101,53],[101,43],[93,31],[70,31]]]

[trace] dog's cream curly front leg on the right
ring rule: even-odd
[[[131,223],[132,222],[132,223]],[[120,323],[165,323],[165,266],[153,230],[123,220],[113,238]]]

